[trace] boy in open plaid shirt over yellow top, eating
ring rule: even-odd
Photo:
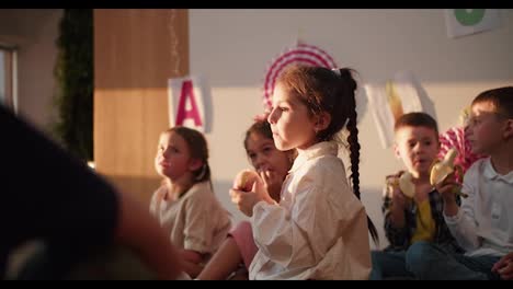
[[[409,270],[411,244],[426,241],[460,252],[442,216],[441,195],[430,184],[430,172],[440,149],[436,120],[425,113],[402,115],[395,125],[395,152],[411,174],[414,196],[387,186],[384,196],[385,232],[390,246],[372,253],[371,279],[413,277]],[[398,178],[404,172],[389,177]]]

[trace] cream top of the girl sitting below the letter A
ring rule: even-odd
[[[217,200],[209,182],[193,185],[176,200],[161,199],[153,193],[150,212],[169,232],[169,239],[179,248],[200,253],[214,253],[225,240],[231,221],[228,212]]]

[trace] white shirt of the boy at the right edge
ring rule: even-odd
[[[500,175],[490,158],[476,161],[465,174],[458,213],[445,221],[466,255],[502,256],[513,252],[513,172]]]

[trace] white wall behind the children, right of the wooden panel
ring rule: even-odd
[[[434,102],[441,130],[481,91],[513,84],[513,12],[502,27],[452,39],[443,10],[190,10],[191,73],[212,85],[213,132],[207,135],[216,193],[237,219],[228,198],[235,174],[249,166],[242,146],[252,117],[262,111],[265,69],[301,38],[355,68],[364,83],[381,82],[408,69]],[[361,118],[363,203],[383,234],[384,176],[401,167],[383,149],[374,119]]]

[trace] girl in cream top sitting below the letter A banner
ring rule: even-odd
[[[231,227],[212,190],[205,137],[182,126],[163,131],[155,166],[164,180],[151,197],[150,212],[181,250],[185,273],[194,278]]]

